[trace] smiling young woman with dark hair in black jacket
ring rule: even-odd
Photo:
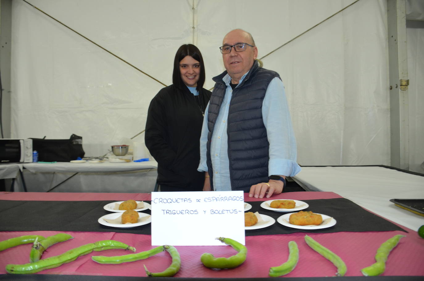
[[[178,49],[172,80],[150,103],[145,143],[158,162],[160,191],[202,191],[199,139],[211,92],[203,88],[205,68],[195,45]]]

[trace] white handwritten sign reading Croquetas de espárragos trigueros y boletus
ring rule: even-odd
[[[245,244],[243,191],[152,192],[152,245]]]

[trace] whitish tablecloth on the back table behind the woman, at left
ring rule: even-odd
[[[157,178],[157,162],[23,163],[28,191],[149,193]],[[74,176],[75,173],[78,173]],[[15,191],[23,191],[20,178]]]

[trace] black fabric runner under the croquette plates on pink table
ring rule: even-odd
[[[325,214],[336,219],[336,225],[317,230],[289,228],[275,222],[267,228],[246,230],[246,236],[288,234],[295,232],[330,233],[339,231],[403,230],[345,198],[303,200],[309,208],[303,211]],[[98,219],[111,212],[103,206],[115,201],[12,201],[0,200],[0,231],[98,231],[151,234],[151,224],[134,228],[113,228],[100,225]],[[149,202],[150,201],[145,201]],[[251,212],[258,211],[277,219],[286,213],[260,207],[262,202],[248,202]],[[150,210],[142,211],[151,214]],[[405,231],[405,230],[403,230]]]

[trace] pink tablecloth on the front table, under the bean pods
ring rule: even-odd
[[[272,199],[311,200],[338,198],[332,192],[290,192],[283,193]],[[131,194],[136,200],[150,200],[150,194]],[[128,194],[78,194],[78,193],[0,193],[0,200],[127,200]],[[263,201],[264,199],[245,198],[246,201]],[[42,218],[37,218],[42,219]],[[360,222],[358,222],[360,223]],[[379,245],[396,234],[406,235],[398,246],[391,252],[386,263],[383,275],[418,275],[424,276],[422,258],[424,253],[424,239],[415,231],[409,233],[402,231],[385,232],[337,232],[337,233],[310,233],[316,241],[338,254],[347,265],[346,276],[361,276],[360,269],[374,263],[374,255]],[[28,234],[53,235],[55,231],[31,232],[1,232],[0,241],[16,236]],[[117,232],[67,232],[74,236],[67,242],[53,245],[44,253],[43,258],[56,256],[73,247],[99,240],[114,239],[137,248],[137,252],[149,250],[151,236],[117,233]],[[187,235],[190,231],[187,231]],[[170,230],[172,235],[172,230]],[[215,256],[231,256],[235,252],[229,246],[177,246],[181,255],[181,270],[175,277],[190,278],[255,278],[267,277],[271,266],[277,266],[287,260],[287,243],[291,240],[297,242],[300,259],[295,270],[285,275],[286,277],[319,277],[332,276],[336,272],[335,266],[324,257],[312,250],[304,242],[305,233],[285,235],[246,236],[248,257],[237,268],[230,270],[210,270],[200,262],[202,253],[209,252]],[[6,273],[6,264],[24,264],[28,262],[31,244],[21,245],[0,252],[0,273]],[[126,264],[97,264],[91,256],[124,255],[129,252],[124,250],[106,250],[81,256],[75,261],[60,267],[44,270],[42,274],[69,274],[69,275],[115,275],[115,276],[146,276],[143,270],[145,264],[149,270],[158,272],[170,264],[169,255],[164,252],[149,259]]]

